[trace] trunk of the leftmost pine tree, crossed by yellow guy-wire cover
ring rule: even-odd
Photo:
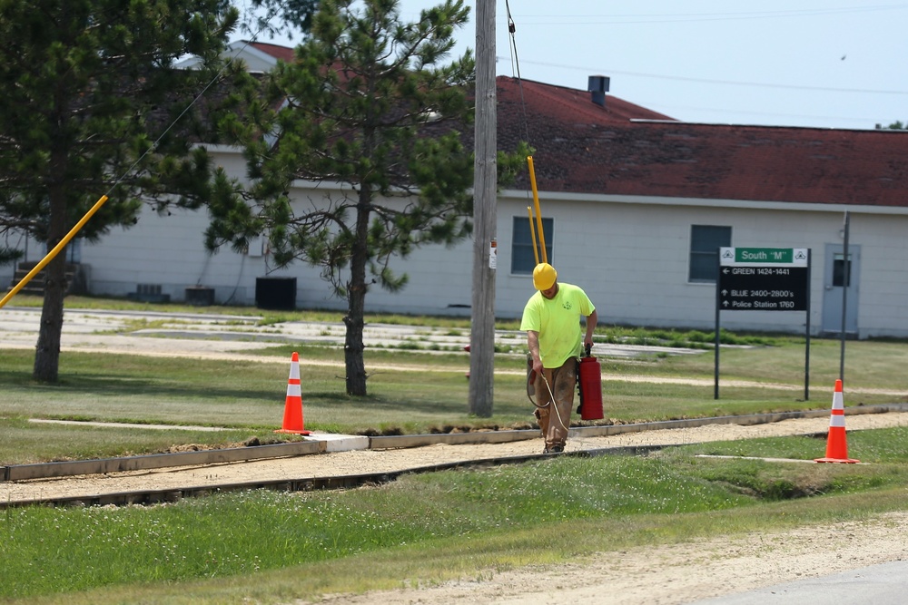
[[[50,224],[47,248],[53,249],[66,234],[64,193],[51,191]],[[63,333],[63,299],[66,295],[66,253],[64,250],[44,268],[44,307],[35,346],[32,377],[38,382],[55,383],[60,368],[60,337]]]

